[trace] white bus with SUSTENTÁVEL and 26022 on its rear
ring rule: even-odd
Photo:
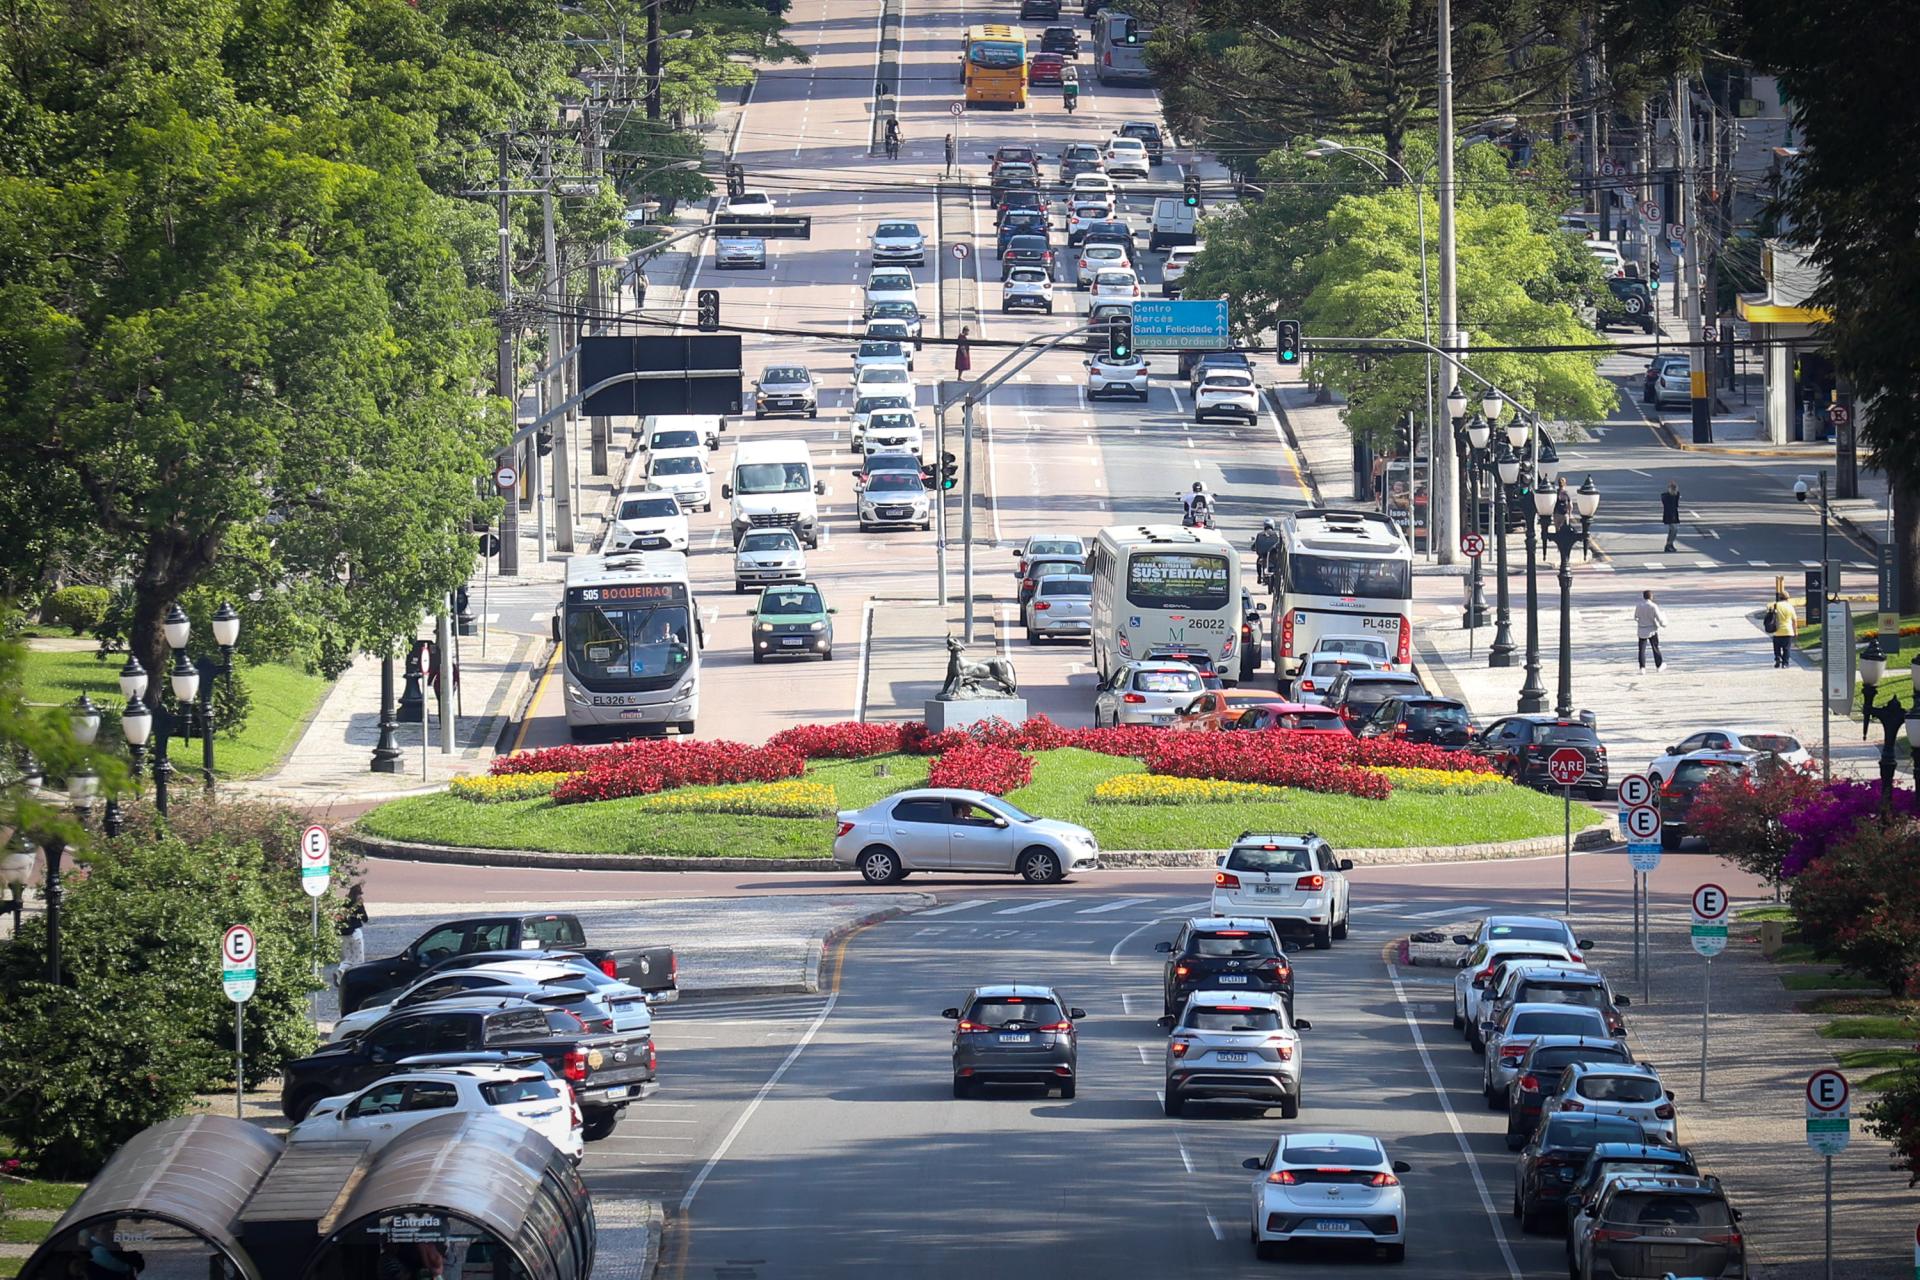
[[[1160,651],[1206,651],[1233,683],[1240,664],[1240,558],[1215,530],[1116,524],[1087,555],[1092,662],[1106,679]]]

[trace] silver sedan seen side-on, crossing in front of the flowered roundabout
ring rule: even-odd
[[[910,871],[1012,871],[1050,885],[1100,865],[1092,831],[1035,818],[985,791],[916,789],[864,810],[841,810],[833,864],[870,885]]]

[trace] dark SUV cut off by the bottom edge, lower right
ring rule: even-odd
[[[1580,1240],[1578,1280],[1624,1276],[1747,1276],[1740,1211],[1711,1178],[1647,1173],[1599,1194]]]

